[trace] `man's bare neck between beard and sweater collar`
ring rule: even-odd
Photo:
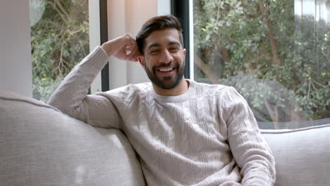
[[[185,77],[182,78],[181,82],[174,87],[173,89],[162,89],[158,87],[157,85],[152,84],[152,87],[154,87],[154,92],[161,96],[179,96],[181,94],[184,94],[188,91],[189,83],[185,80]]]

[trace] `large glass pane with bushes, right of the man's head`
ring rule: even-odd
[[[194,0],[194,77],[235,87],[262,129],[330,123],[330,1]]]

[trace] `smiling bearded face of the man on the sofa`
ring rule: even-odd
[[[145,39],[143,53],[140,63],[154,85],[172,89],[181,82],[185,68],[185,49],[182,48],[178,30],[152,32]]]

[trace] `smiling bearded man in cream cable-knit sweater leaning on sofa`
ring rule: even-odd
[[[152,83],[87,95],[108,56],[140,61]],[[148,185],[274,185],[274,158],[232,87],[185,80],[181,25],[152,18],[75,66],[49,99],[68,115],[126,133]]]

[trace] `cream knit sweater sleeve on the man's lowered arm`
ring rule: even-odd
[[[243,175],[242,185],[274,185],[274,157],[250,107],[233,87],[228,87],[223,99],[228,142]]]

